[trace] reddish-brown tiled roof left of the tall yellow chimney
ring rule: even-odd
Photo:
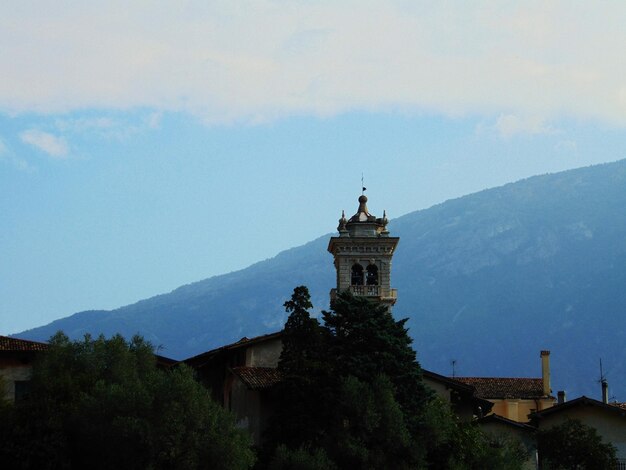
[[[455,380],[472,385],[481,398],[539,398],[543,394],[543,381],[529,378],[455,377]]]

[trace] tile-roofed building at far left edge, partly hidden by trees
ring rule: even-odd
[[[46,343],[0,336],[0,397],[15,401],[28,394],[33,362],[47,349]]]

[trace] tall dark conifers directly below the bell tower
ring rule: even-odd
[[[306,287],[285,307],[285,379],[267,443],[272,462],[323,450],[340,468],[416,468],[424,454],[416,423],[430,395],[404,322],[344,293],[320,326],[308,313]],[[287,454],[277,453],[281,444]]]

